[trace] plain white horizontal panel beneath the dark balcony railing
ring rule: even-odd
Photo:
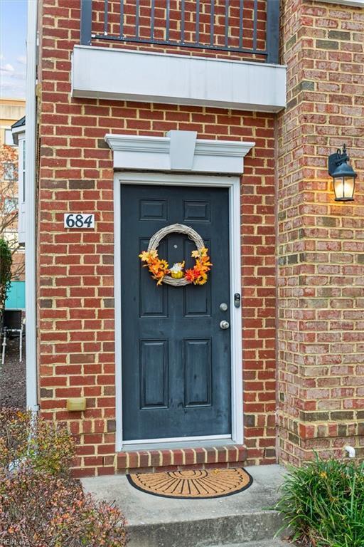
[[[73,97],[279,112],[286,67],[75,46],[72,88]]]

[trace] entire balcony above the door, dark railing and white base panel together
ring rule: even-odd
[[[279,0],[81,0],[73,96],[277,112],[278,48]]]

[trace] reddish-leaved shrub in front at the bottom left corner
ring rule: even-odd
[[[3,476],[1,476],[3,474]],[[0,545],[29,547],[124,547],[119,510],[96,503],[71,477],[20,467],[0,471]]]

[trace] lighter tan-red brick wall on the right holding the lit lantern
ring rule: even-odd
[[[364,11],[287,0],[279,115],[279,447],[298,464],[364,456]],[[355,202],[334,201],[327,157],[346,143]]]

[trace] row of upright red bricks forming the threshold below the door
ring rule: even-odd
[[[206,448],[133,450],[117,453],[117,472],[153,473],[183,469],[238,467],[246,459],[247,448],[243,444]]]

